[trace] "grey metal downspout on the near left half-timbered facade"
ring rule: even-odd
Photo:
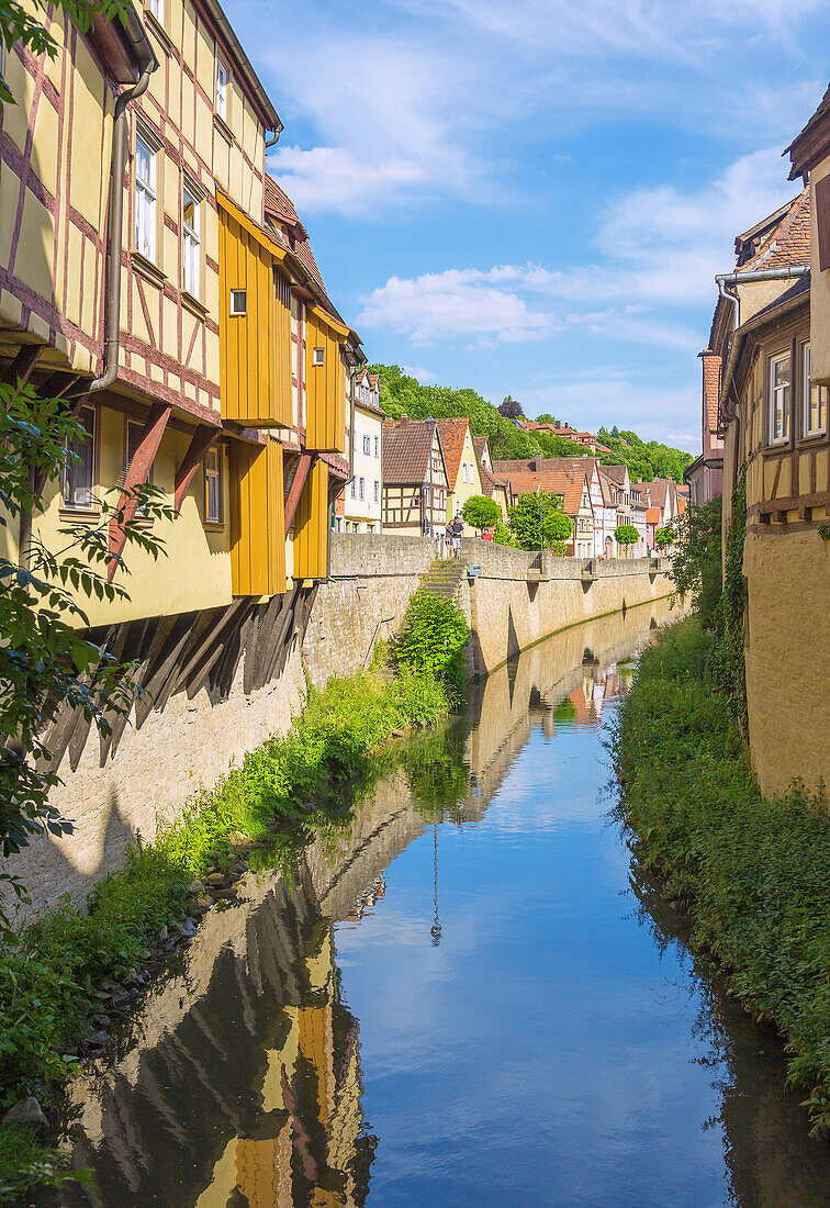
[[[150,76],[158,66],[146,30],[134,12],[128,8],[123,25],[129,41],[135,50],[141,75],[134,85],[120,93],[115,103],[112,122],[112,168],[110,188],[110,238],[106,274],[106,342],[104,344],[104,371],[85,387],[85,394],[105,390],[115,382],[118,372],[118,350],[121,347],[121,246],[124,225],[124,163],[127,157],[127,105],[147,91]]]

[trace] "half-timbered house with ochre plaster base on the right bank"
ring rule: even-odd
[[[830,507],[830,257],[822,251],[820,188],[817,196],[830,156],[822,138],[830,143],[819,109],[790,149],[803,190],[738,236],[735,267],[718,278],[707,349],[721,366],[725,536],[743,511],[736,490],[745,490],[747,705],[753,767],[766,792],[783,792],[794,777],[812,788],[830,777],[830,656],[820,637],[830,605],[822,540]]]

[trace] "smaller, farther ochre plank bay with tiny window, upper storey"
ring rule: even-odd
[[[346,366],[341,343],[348,327],[329,320],[318,307],[306,310],[306,448],[346,453]],[[314,350],[323,349],[323,364]]]

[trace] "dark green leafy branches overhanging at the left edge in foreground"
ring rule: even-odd
[[[65,400],[40,399],[19,382],[0,385],[0,525],[43,510],[33,483],[59,477],[68,445],[82,435]],[[31,538],[17,561],[0,558],[0,850],[6,856],[43,830],[63,835],[72,829],[48,801],[58,776],[48,768],[43,737],[60,705],[80,707],[109,733],[111,719],[127,713],[134,699],[130,664],[120,664],[83,637],[89,621],[79,603],[129,598],[109,582],[111,522],[123,528],[127,544],[158,557],[163,542],[145,524],[172,518],[173,509],[159,487],[139,487],[133,499],[140,505],[139,522],[130,518],[132,499],[115,505],[100,500],[99,523],[63,528],[60,550]],[[13,550],[11,541],[7,548]],[[120,556],[115,562],[126,569]]]

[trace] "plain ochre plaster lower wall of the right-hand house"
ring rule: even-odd
[[[765,794],[830,785],[830,544],[816,530],[747,539],[747,703]]]

